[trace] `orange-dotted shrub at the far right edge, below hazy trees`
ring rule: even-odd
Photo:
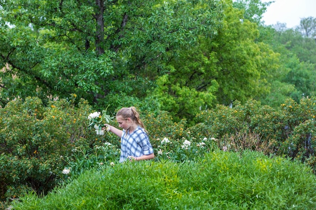
[[[281,105],[281,112],[286,136],[279,142],[277,154],[304,162],[316,172],[316,97],[303,98],[300,103],[289,99]]]

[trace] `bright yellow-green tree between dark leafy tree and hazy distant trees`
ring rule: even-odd
[[[266,78],[277,68],[278,54],[256,43],[257,25],[223,1],[223,27],[213,39],[199,36],[199,45],[181,51],[170,71],[157,81],[154,94],[175,119],[192,119],[200,109],[260,98],[269,92]]]

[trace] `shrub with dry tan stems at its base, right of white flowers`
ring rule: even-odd
[[[267,119],[275,117],[266,114],[270,107],[260,107],[259,102],[254,100],[249,100],[244,105],[236,101],[234,105],[234,108],[218,105],[214,109],[197,114],[196,117],[201,121],[199,127],[204,130],[201,132],[219,138],[218,146],[225,150],[250,149],[266,154],[273,151],[271,136],[268,133],[269,129],[267,129],[267,123],[269,123]],[[260,130],[260,123],[263,125],[262,130]],[[274,125],[269,126],[273,127]],[[274,133],[273,131],[270,132]]]

